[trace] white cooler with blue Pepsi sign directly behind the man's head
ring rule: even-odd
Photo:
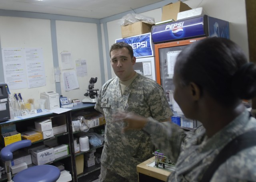
[[[116,39],[116,42],[126,42],[131,45],[136,57],[134,70],[156,81],[154,47],[152,47],[154,44],[151,33]]]

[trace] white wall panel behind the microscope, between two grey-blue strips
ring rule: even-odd
[[[100,78],[100,58],[98,50],[97,26],[95,23],[56,21],[56,35],[58,45],[58,58],[61,69],[61,93],[71,99],[84,98],[84,93],[88,89],[91,77],[97,77],[98,80],[94,88],[101,88]],[[71,53],[74,69],[62,70],[60,53],[68,51]],[[88,75],[77,77],[79,88],[65,91],[63,82],[63,73],[76,70],[76,60],[86,60]]]

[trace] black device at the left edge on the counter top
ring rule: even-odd
[[[8,86],[6,83],[0,83],[0,121],[7,121],[9,119]]]

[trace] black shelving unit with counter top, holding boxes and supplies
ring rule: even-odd
[[[60,116],[60,115],[65,115],[67,132],[61,133],[58,135],[54,135],[54,137],[51,137],[50,139],[44,139],[44,140],[34,142],[34,143],[32,143],[32,145],[34,145],[35,143],[43,143],[45,141],[48,141],[48,140],[51,140],[54,138],[56,138],[60,144],[62,144],[62,143],[68,144],[68,146],[69,146],[68,147],[69,148],[68,155],[66,155],[64,157],[60,157],[58,159],[55,159],[54,161],[49,162],[47,164],[54,164],[54,162],[57,162],[57,161],[62,162],[64,164],[65,169],[68,170],[70,172],[70,174],[72,175],[72,181],[78,182],[78,178],[85,177],[88,174],[91,174],[91,173],[94,173],[95,171],[100,170],[100,164],[96,164],[95,166],[91,166],[89,168],[85,167],[84,172],[82,174],[77,175],[75,157],[78,155],[84,155],[84,153],[86,153],[86,152],[79,152],[79,153],[74,152],[74,135],[76,135],[76,133],[79,133],[79,132],[72,131],[72,115],[76,114],[77,112],[81,112],[81,111],[91,112],[91,111],[95,111],[95,110],[94,110],[94,104],[78,104],[78,105],[73,106],[72,108],[68,108],[68,109],[70,109],[70,110],[67,112],[61,113],[61,114],[55,114],[48,110],[45,110],[44,112],[39,113],[39,114],[27,115],[24,117],[21,117],[21,116],[15,117],[15,119],[1,122],[0,126],[10,124],[10,123],[15,123],[16,130],[19,133],[21,133],[23,131],[26,131],[26,128],[28,126],[31,126],[34,123],[34,121],[36,121],[37,119],[41,119],[43,117],[56,117],[56,116]],[[97,126],[97,127],[103,127],[103,126]],[[89,151],[92,151],[93,149],[102,150],[103,146],[104,146],[104,144],[101,146],[98,146],[98,147],[92,147],[92,148],[90,148]],[[87,152],[89,152],[89,151],[87,151]],[[30,164],[30,165],[28,165],[28,167],[33,166],[33,165],[34,164]],[[2,178],[0,178],[0,182],[6,182],[6,181],[7,181],[6,174],[2,174]],[[90,179],[88,179],[87,181],[90,181]]]

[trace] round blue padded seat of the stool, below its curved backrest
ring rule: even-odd
[[[40,165],[18,172],[12,180],[14,182],[56,182],[59,177],[60,170],[56,166]]]

